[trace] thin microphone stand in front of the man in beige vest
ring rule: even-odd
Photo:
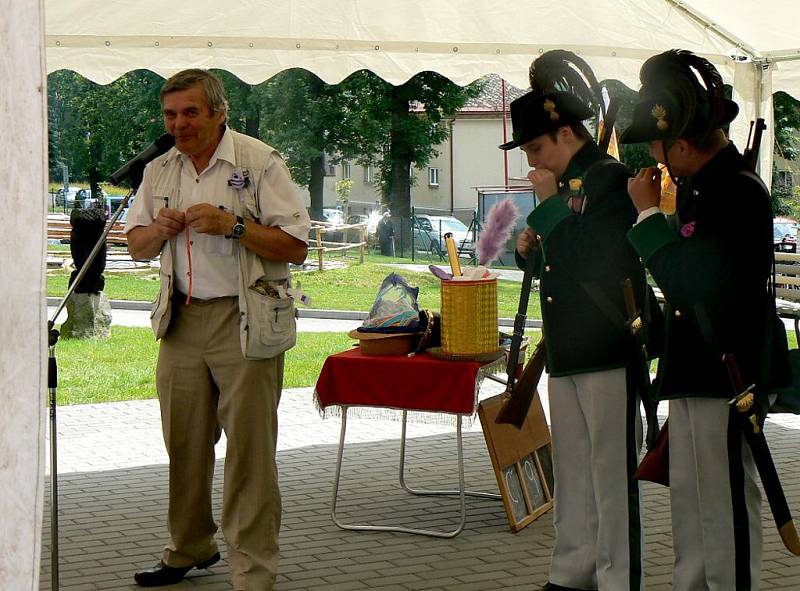
[[[135,184],[138,186],[138,183]],[[58,591],[58,443],[57,443],[57,436],[56,436],[56,399],[57,399],[57,392],[58,392],[58,364],[56,363],[56,343],[58,342],[58,337],[60,333],[57,328],[55,328],[56,318],[58,315],[61,314],[61,311],[66,306],[67,301],[75,292],[75,288],[78,287],[81,280],[83,279],[84,275],[89,270],[89,267],[92,264],[92,261],[97,257],[97,253],[100,252],[100,249],[105,244],[106,237],[108,233],[111,231],[112,226],[114,223],[119,219],[119,216],[122,215],[122,211],[128,206],[128,201],[130,201],[131,195],[135,190],[135,186],[131,189],[128,194],[125,196],[125,199],[122,200],[117,210],[114,212],[114,215],[111,216],[111,219],[108,220],[105,229],[103,230],[103,234],[98,239],[97,243],[94,245],[92,252],[89,253],[89,257],[86,259],[86,262],[81,267],[81,270],[78,271],[78,275],[75,277],[75,281],[72,282],[72,285],[69,286],[66,295],[61,299],[61,302],[58,304],[56,311],[53,313],[50,320],[47,321],[47,332],[48,332],[48,349],[49,349],[49,357],[47,363],[47,390],[49,392],[49,409],[50,409],[50,580],[51,580],[51,589],[52,591]]]

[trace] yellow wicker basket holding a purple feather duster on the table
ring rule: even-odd
[[[497,280],[442,281],[442,352],[469,356],[497,350]]]

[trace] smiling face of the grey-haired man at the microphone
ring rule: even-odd
[[[164,127],[175,136],[175,147],[187,156],[210,156],[221,137],[222,112],[212,113],[199,85],[164,95]]]

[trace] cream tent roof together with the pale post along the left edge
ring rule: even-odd
[[[42,20],[42,6],[46,21]],[[301,67],[335,83],[369,69],[389,82],[424,70],[466,84],[488,73],[527,86],[531,59],[576,51],[598,78],[638,87],[641,62],[690,49],[733,84],[743,113],[733,130],[767,119],[771,95],[800,98],[798,0],[0,0],[0,575],[9,589],[38,588],[42,511],[46,70],[70,69],[100,83],[146,68],[169,76],[221,68],[258,83]],[[44,25],[44,32],[42,26]],[[762,150],[770,171],[771,150]],[[765,175],[769,180],[769,175]],[[32,223],[33,221],[33,223]],[[39,265],[38,268],[37,264]]]

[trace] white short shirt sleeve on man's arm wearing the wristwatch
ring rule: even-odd
[[[311,219],[283,158],[272,152],[258,187],[261,223],[280,228],[308,244]]]

